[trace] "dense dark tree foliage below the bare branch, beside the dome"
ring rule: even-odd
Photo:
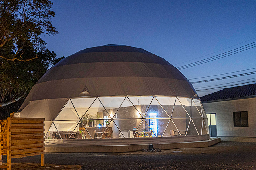
[[[56,54],[48,49],[37,55],[37,59],[29,62],[0,58],[0,106],[7,106],[26,97],[32,86],[57,61]]]

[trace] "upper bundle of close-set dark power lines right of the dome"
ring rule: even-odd
[[[254,48],[254,47],[256,47],[255,45],[256,45],[256,44],[253,44],[253,45],[251,45],[251,46],[253,46],[253,47],[251,47],[251,46],[248,46],[248,47]],[[245,47],[245,48],[247,48],[247,49],[245,49],[245,48],[242,48],[242,49],[245,49],[245,50],[251,49],[251,48],[248,48],[248,47]],[[216,55],[216,56],[218,56],[218,57],[213,56],[214,58],[213,58],[213,57],[206,58],[206,59],[203,59],[203,60],[200,60],[200,61],[197,61],[197,62],[188,64],[188,65],[184,65],[184,66],[178,67],[178,69],[179,69],[179,70],[187,69],[187,68],[189,68],[189,67],[194,67],[194,66],[197,66],[197,65],[201,65],[201,64],[204,64],[204,63],[208,63],[208,62],[214,61],[214,60],[216,60],[216,59],[221,59],[221,58],[224,58],[224,57],[227,57],[227,56],[231,56],[231,55],[233,55],[233,54],[236,54],[236,53],[245,51],[245,50],[242,50],[242,49],[240,49],[241,51],[240,51],[240,50],[236,50],[236,51],[238,51],[238,52],[236,52],[236,51],[230,52],[230,53],[228,53],[229,55],[222,53],[222,54],[224,54],[224,55],[219,56],[219,55],[221,55],[221,54],[219,54],[219,55]],[[234,52],[235,52],[235,53],[234,53]],[[233,53],[233,54],[231,54],[231,53]]]

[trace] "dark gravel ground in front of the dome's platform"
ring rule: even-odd
[[[182,151],[171,153],[171,151]],[[82,165],[82,169],[256,169],[256,143],[220,142],[208,148],[128,152],[120,154],[48,153],[45,162]],[[3,156],[6,162],[6,156]],[[40,156],[12,159],[12,162],[39,163]]]

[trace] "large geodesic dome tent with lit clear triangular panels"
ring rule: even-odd
[[[62,59],[33,86],[20,117],[45,118],[48,139],[208,134],[191,83],[141,48],[106,45]]]

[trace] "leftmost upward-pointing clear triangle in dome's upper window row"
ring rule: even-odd
[[[79,120],[77,112],[70,99],[54,120]]]

